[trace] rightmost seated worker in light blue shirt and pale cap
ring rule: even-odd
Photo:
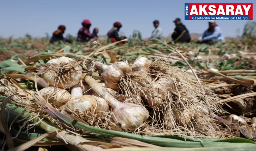
[[[198,38],[197,43],[224,42],[222,30],[215,20],[209,21],[209,28]]]

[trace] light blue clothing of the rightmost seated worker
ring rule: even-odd
[[[200,39],[203,39],[204,41],[214,40],[214,39],[222,42],[225,41],[219,26],[215,27],[212,32],[208,32],[207,30],[204,31],[203,35],[198,38],[198,40]]]

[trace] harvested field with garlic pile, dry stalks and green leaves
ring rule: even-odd
[[[2,149],[253,150],[255,27],[212,45],[2,38]]]

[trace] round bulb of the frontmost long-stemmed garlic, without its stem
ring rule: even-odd
[[[149,118],[149,111],[142,105],[122,103],[113,110],[109,126],[115,131],[134,131]]]

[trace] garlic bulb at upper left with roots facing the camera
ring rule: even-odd
[[[64,64],[66,67],[69,66],[70,70],[67,69],[62,71],[63,66],[65,66]],[[59,68],[57,69],[56,67]],[[82,67],[76,60],[64,56],[59,57],[57,59],[52,59],[45,64],[42,78],[51,86],[69,89],[82,80]]]

